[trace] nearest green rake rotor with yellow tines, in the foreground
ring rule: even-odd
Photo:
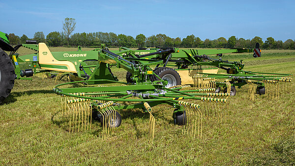
[[[73,83],[88,83],[80,81]],[[69,121],[69,132],[83,131],[91,128],[91,118],[97,118],[102,124],[102,140],[114,132],[121,123],[119,111],[125,109],[144,109],[149,113],[148,137],[150,143],[154,138],[155,118],[152,107],[167,104],[175,108],[173,118],[175,124],[183,125],[183,134],[202,138],[203,116],[225,118],[228,110],[228,93],[212,93],[214,88],[194,88],[190,85],[180,85],[166,88],[164,85],[128,84],[109,80],[96,80],[109,86],[69,87],[61,88],[72,83],[62,83],[54,87],[61,95],[62,114]],[[203,93],[202,93],[203,92]],[[207,92],[207,93],[205,93]],[[207,97],[203,97],[207,96]],[[211,98],[219,96],[224,98]],[[202,110],[198,103],[207,103],[207,109]],[[132,102],[133,104],[126,104]],[[205,104],[204,104],[205,105]],[[90,117],[90,118],[89,118]]]

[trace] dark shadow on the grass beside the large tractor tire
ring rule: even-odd
[[[39,94],[39,93],[48,94],[48,93],[53,93],[53,91],[52,90],[28,90],[24,92],[12,92],[9,94],[9,96],[6,99],[4,99],[4,101],[1,104],[14,103],[17,101],[17,97],[21,97],[24,95]]]

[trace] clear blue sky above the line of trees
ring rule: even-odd
[[[62,31],[66,17],[75,32],[114,32],[136,37],[194,34],[202,40],[230,36],[295,40],[295,0],[0,0],[0,31],[45,36]]]

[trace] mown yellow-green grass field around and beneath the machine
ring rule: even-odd
[[[29,54],[27,50],[19,54]],[[223,58],[244,59],[249,71],[295,74],[295,51]],[[114,70],[119,81],[125,81],[125,73]],[[294,82],[279,101],[264,95],[249,101],[247,85],[238,89],[229,99],[227,120],[206,119],[202,139],[182,135],[181,126],[173,123],[174,109],[156,106],[153,145],[148,143],[149,115],[139,109],[120,111],[121,126],[103,142],[96,121],[91,130],[69,134],[60,119],[60,97],[52,91],[58,83],[63,82],[16,80],[0,106],[0,165],[295,165]]]

